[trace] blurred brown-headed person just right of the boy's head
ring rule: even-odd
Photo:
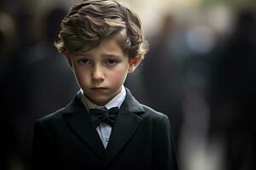
[[[142,65],[145,84],[143,102],[166,113],[178,139],[183,120],[183,56],[177,52],[177,23],[172,14],[164,14],[157,33],[148,37],[149,50]],[[181,37],[178,37],[179,40]],[[156,66],[158,65],[158,66]],[[164,76],[160,76],[164,75]]]

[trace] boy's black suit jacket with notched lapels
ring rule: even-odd
[[[78,94],[34,128],[34,170],[177,170],[166,115],[141,105],[126,89],[105,150]]]

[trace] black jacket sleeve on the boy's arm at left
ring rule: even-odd
[[[36,122],[32,144],[32,170],[55,169],[53,133],[42,122]]]

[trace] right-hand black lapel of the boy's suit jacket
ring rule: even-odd
[[[103,167],[107,167],[125,144],[129,142],[139,127],[142,118],[139,113],[144,112],[143,107],[133,98],[130,91],[126,89],[125,101],[121,105],[119,115],[113,126],[104,157]]]

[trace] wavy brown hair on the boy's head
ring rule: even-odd
[[[70,8],[61,21],[55,47],[61,54],[96,48],[103,40],[116,37],[129,58],[148,51],[137,14],[114,0],[83,0]]]

